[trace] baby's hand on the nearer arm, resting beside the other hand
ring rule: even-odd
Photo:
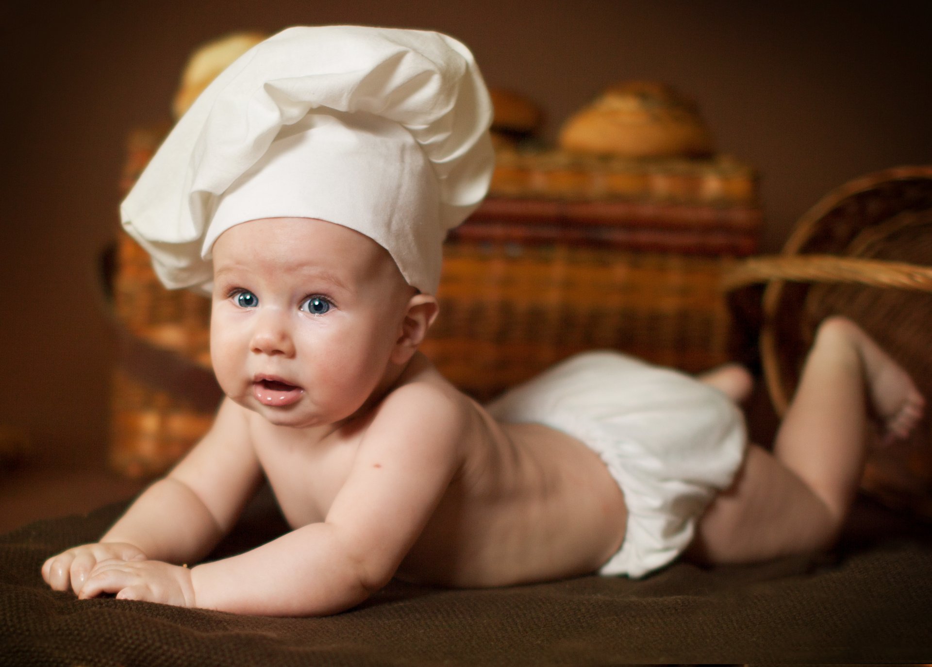
[[[78,597],[84,600],[102,592],[117,593],[118,600],[196,606],[191,570],[161,561],[112,560],[98,563]]]

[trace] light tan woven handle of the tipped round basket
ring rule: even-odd
[[[774,279],[860,283],[871,287],[932,292],[932,267],[830,254],[751,257],[722,276],[721,289],[732,292]]]

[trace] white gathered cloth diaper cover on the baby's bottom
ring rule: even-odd
[[[613,351],[561,361],[487,409],[503,422],[561,430],[605,462],[628,519],[602,575],[643,577],[674,560],[732,483],[747,444],[741,412],[718,389]]]

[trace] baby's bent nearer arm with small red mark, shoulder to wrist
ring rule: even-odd
[[[459,467],[464,418],[457,402],[433,388],[397,389],[379,406],[326,520],[198,565],[193,604],[310,616],[362,602],[391,579],[443,497]],[[103,572],[98,590],[143,576],[136,565]]]

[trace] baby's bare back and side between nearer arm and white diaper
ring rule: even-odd
[[[624,497],[583,443],[539,424],[483,422],[398,577],[456,587],[561,579],[595,571],[624,538]]]

